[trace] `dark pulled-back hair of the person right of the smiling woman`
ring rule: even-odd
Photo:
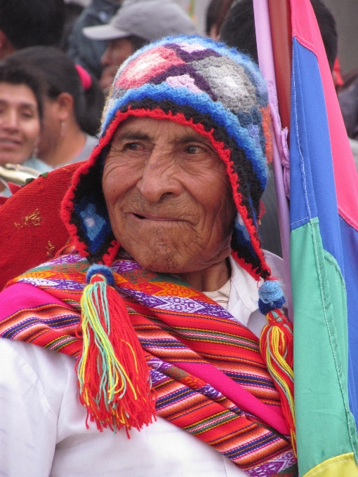
[[[82,128],[86,114],[84,88],[74,62],[54,46],[32,46],[15,51],[9,58],[37,68],[46,82],[46,95],[55,100],[61,93],[69,93],[74,100],[74,116]]]

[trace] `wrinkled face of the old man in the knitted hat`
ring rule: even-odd
[[[102,187],[114,236],[142,267],[199,271],[230,255],[235,207],[225,164],[190,126],[121,123]]]

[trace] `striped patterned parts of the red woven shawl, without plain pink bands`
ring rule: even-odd
[[[80,335],[76,336],[79,300],[87,268],[85,259],[66,255],[18,277],[12,283],[37,285],[60,298],[64,306],[49,308],[51,318],[39,308],[22,309],[0,323],[1,336],[12,333],[13,339],[24,341],[30,337],[32,343],[50,349],[60,342],[59,351],[77,357],[81,351]],[[296,475],[296,461],[285,436],[185,370],[187,366],[198,372],[211,367],[213,375],[218,372],[230,378],[232,387],[239,385],[265,405],[268,414],[281,416],[277,389],[263,364],[256,336],[178,278],[154,274],[133,260],[118,260],[112,270],[145,350],[158,415],[212,445],[250,476]]]

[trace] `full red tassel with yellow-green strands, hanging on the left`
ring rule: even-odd
[[[77,362],[80,401],[100,431],[125,427],[128,435],[132,427],[150,424],[155,414],[150,372],[126,304],[111,286],[110,268],[93,265],[87,282],[81,297],[84,341]]]

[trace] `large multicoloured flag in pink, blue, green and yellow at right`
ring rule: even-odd
[[[254,0],[255,16],[263,4]],[[358,174],[310,0],[287,4],[298,469],[301,477],[353,477],[358,476]],[[258,26],[256,32],[260,36]],[[258,38],[259,60],[266,44]]]

